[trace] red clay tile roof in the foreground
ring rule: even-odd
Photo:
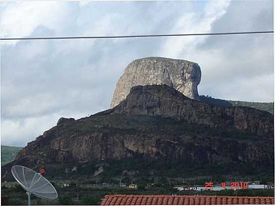
[[[120,205],[258,205],[273,204],[274,197],[199,195],[106,195],[101,206]]]

